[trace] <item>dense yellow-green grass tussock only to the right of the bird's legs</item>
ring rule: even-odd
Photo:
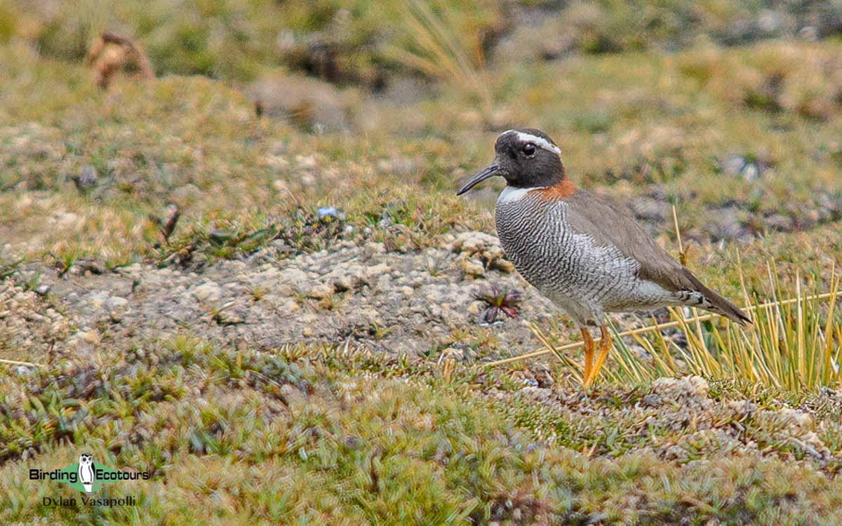
[[[835,279],[832,290],[824,295],[803,295],[797,290],[795,297],[755,306],[751,309],[754,325],[748,328],[729,321],[722,326],[712,322],[711,316],[695,313],[685,318],[673,311],[678,338],[668,339],[657,330],[656,337],[633,333],[637,352],[618,338],[619,371],[608,375],[612,380],[625,377],[647,382],[659,376],[694,374],[793,391],[838,388],[842,348],[838,314],[834,319],[838,284]],[[827,306],[825,300],[829,300]]]

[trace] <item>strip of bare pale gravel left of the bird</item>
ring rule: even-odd
[[[523,321],[546,320],[555,309],[514,273],[497,238],[477,231],[412,253],[342,242],[278,259],[268,247],[200,272],[144,264],[109,272],[79,261],[60,277],[30,264],[0,288],[0,330],[16,346],[55,353],[184,330],[258,348],[351,341],[427,353],[465,339],[454,332],[488,330],[488,305],[475,295],[492,286],[522,293],[519,319],[501,312],[493,324],[496,347],[507,354],[536,347]]]

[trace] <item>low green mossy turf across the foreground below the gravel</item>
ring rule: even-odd
[[[763,442],[780,428],[773,420],[743,422],[772,448],[765,459],[711,454],[682,465],[618,448],[636,427],[627,409],[638,391],[600,391],[584,402],[592,417],[554,420],[536,401],[489,396],[493,376],[460,380],[471,375],[457,366],[445,382],[424,364],[371,353],[258,353],[185,335],[103,349],[94,361],[29,377],[0,371],[4,522],[832,523],[839,508],[834,479],[781,460],[797,453],[791,444]],[[637,447],[671,433],[649,427]],[[822,433],[834,448],[839,436],[838,426]],[[152,472],[103,494],[131,491],[140,506],[40,507],[72,492],[26,480],[26,468],[67,465],[78,448]]]

